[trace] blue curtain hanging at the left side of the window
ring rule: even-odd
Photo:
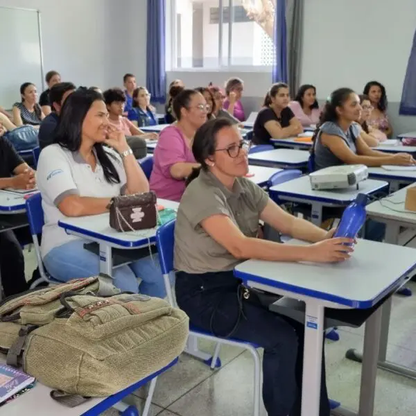
[[[166,101],[165,24],[166,0],[148,0],[146,87],[156,103]]]

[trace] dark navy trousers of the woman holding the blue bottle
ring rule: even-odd
[[[177,304],[196,327],[219,336],[234,328],[232,338],[263,347],[263,402],[268,416],[300,416],[304,325],[245,301],[240,315],[238,285],[232,271],[201,275],[177,272]],[[322,353],[320,416],[329,413]]]

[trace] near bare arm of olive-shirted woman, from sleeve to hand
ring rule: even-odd
[[[351,239],[328,239],[313,245],[280,244],[245,236],[224,214],[209,216],[201,221],[202,228],[219,245],[236,259],[266,261],[318,261],[335,262],[349,258],[352,248],[343,243]],[[347,249],[348,253],[343,252]]]

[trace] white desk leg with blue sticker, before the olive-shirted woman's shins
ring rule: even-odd
[[[302,416],[319,415],[323,337],[324,307],[315,300],[307,301],[302,374]]]

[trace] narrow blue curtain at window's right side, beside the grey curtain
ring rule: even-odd
[[[273,66],[273,83],[288,83],[288,60],[286,42],[286,0],[276,0],[273,42],[276,49]]]

